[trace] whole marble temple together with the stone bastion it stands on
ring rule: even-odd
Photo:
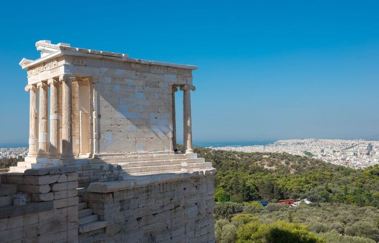
[[[29,152],[1,174],[0,242],[214,242],[216,171],[192,150],[197,67],[36,47],[40,58],[20,62]]]

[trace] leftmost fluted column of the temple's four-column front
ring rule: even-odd
[[[29,102],[29,152],[28,157],[38,155],[38,89],[36,85],[27,85],[25,91],[30,92]]]

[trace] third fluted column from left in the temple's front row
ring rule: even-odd
[[[56,159],[59,154],[59,84],[49,79],[50,85],[50,153],[49,158]]]

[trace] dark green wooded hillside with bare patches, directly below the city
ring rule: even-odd
[[[288,198],[379,206],[379,166],[354,170],[287,153],[244,153],[195,148],[212,162],[216,201]]]

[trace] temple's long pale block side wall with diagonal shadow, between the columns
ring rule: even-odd
[[[86,67],[73,70],[91,77],[93,152],[172,150],[172,85],[191,83],[191,71],[132,63],[95,68],[100,61],[87,58]]]

